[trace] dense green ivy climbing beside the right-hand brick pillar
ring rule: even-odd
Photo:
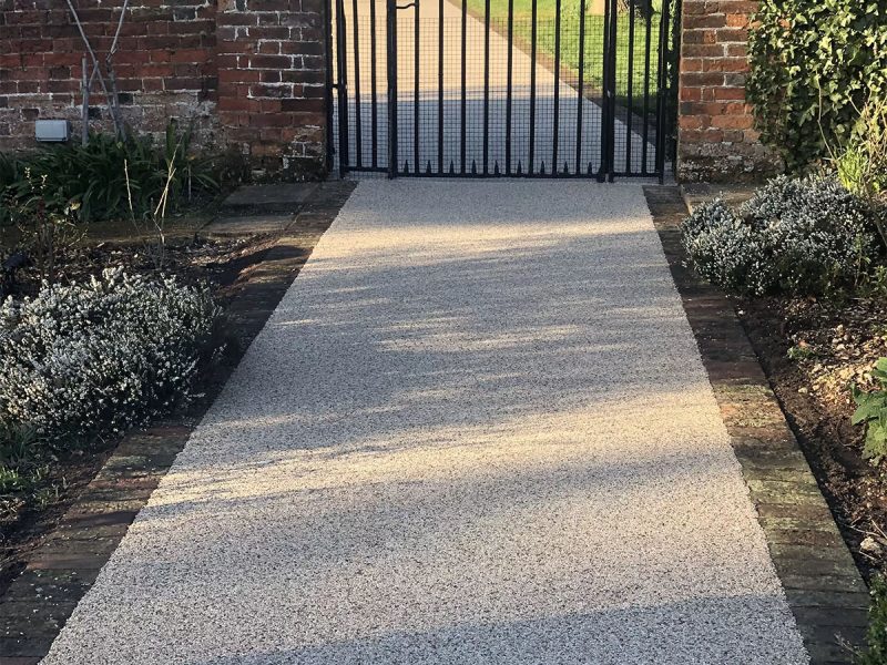
[[[859,109],[887,98],[884,0],[762,0],[750,37],[748,101],[791,171],[844,145]]]

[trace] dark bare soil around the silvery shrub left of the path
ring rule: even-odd
[[[231,239],[191,238],[169,246],[163,273],[188,284],[207,284],[223,305],[236,293],[251,268],[259,263],[275,239],[265,236]],[[61,280],[81,280],[102,269],[125,266],[128,273],[157,274],[142,245],[100,243],[71,253],[60,262]],[[40,275],[32,269],[17,275],[18,296],[39,288]],[[211,372],[212,374],[212,372]],[[212,385],[212,376],[204,378]],[[0,514],[0,594],[27,560],[27,554],[64,514],[80,491],[89,484],[114,449],[118,439],[94,440],[84,450],[64,451],[41,460],[48,475],[41,481],[44,500],[24,505],[6,505]]]

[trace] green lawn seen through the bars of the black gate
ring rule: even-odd
[[[508,24],[508,1],[490,0],[490,21],[501,33]],[[532,31],[532,0],[512,0],[514,12],[516,41],[529,52]],[[468,0],[468,8],[475,16],[482,17],[486,0]],[[575,0],[563,0],[561,4],[560,52],[561,66],[568,68],[577,75],[579,71],[579,3]],[[632,23],[633,34],[632,34]],[[640,113],[643,104],[644,83],[650,94],[650,111],[655,109],[656,74],[659,60],[660,14],[655,13],[650,21],[650,69],[646,69],[646,19],[638,17],[632,21],[628,13],[620,13],[616,21],[616,102],[628,105],[629,83],[631,81],[632,109]],[[602,16],[585,16],[584,40],[584,83],[587,94],[600,91],[603,86],[603,33]],[[555,41],[555,3],[554,0],[537,1],[537,48],[539,52],[554,59]],[[632,39],[634,45],[632,47]],[[629,73],[629,54],[633,53],[631,75]]]

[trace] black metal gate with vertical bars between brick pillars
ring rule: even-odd
[[[332,2],[343,176],[663,178],[674,162],[680,0]]]

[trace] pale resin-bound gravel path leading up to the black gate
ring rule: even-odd
[[[48,665],[806,663],[641,187],[360,183]]]

